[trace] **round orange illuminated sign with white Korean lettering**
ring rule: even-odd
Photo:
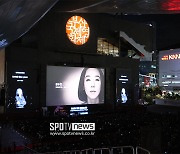
[[[89,25],[84,18],[72,16],[66,23],[66,34],[72,43],[83,45],[89,39]]]

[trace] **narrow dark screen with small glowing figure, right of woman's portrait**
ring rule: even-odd
[[[116,101],[126,104],[131,101],[131,72],[128,69],[116,70]]]

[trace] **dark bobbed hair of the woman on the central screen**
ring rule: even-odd
[[[80,80],[79,80],[78,97],[83,102],[87,101],[87,95],[86,95],[85,88],[84,88],[84,78],[85,78],[86,71],[88,69],[89,68],[83,69]],[[97,69],[99,71],[100,79],[101,79],[101,91],[99,94],[99,102],[103,102],[104,101],[104,91],[102,91],[102,90],[104,89],[104,77],[103,77],[104,75],[103,75],[103,72],[101,69],[99,69],[99,68],[95,68],[95,69]]]

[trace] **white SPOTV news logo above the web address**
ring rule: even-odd
[[[50,131],[95,131],[95,123],[50,123]]]

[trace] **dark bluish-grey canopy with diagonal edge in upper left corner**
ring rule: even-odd
[[[0,48],[26,33],[58,0],[0,0]]]

